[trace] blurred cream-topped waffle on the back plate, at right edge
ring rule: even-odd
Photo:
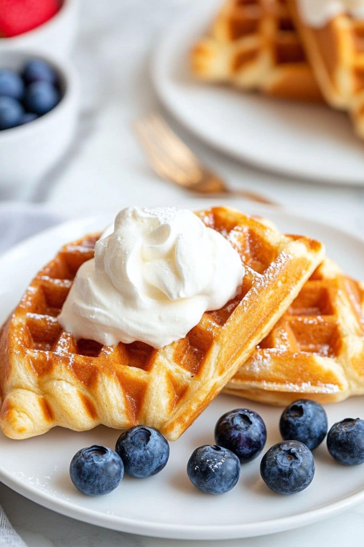
[[[325,100],[347,110],[364,137],[364,20],[342,14],[312,28],[302,19],[299,0],[287,3]]]

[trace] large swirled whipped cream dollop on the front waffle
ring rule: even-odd
[[[243,276],[235,249],[191,211],[127,207],[77,271],[58,321],[76,339],[160,348],[234,298]]]

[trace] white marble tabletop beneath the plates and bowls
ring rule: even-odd
[[[130,124],[151,109],[160,109],[148,76],[150,52],[171,18],[195,0],[83,0],[74,61],[81,74],[83,110],[73,149],[37,188],[1,199],[44,202],[65,216],[120,209],[126,203],[169,201],[178,204],[182,190],[160,182],[136,145]],[[169,119],[170,120],[170,119]],[[172,123],[172,120],[170,120]],[[291,181],[238,164],[208,149],[174,125],[207,164],[231,187],[251,188],[290,208],[351,230],[364,229],[364,188],[330,187]],[[318,150],[319,153],[319,150]],[[130,536],[93,527],[41,508],[0,485],[0,501],[29,547],[174,546],[186,544]],[[242,508],[243,510],[243,508]],[[206,542],[217,547],[332,547],[352,543],[364,534],[364,507],[297,531],[263,538]],[[190,544],[194,542],[189,542]]]

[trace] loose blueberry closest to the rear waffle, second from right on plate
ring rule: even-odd
[[[327,433],[327,416],[316,401],[299,399],[287,406],[279,422],[282,439],[300,441],[315,449]]]

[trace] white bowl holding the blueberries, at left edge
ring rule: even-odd
[[[34,184],[56,163],[75,134],[79,84],[69,62],[51,61],[38,53],[0,53],[0,67],[20,69],[30,58],[49,62],[57,71],[62,98],[47,114],[18,127],[0,131],[0,187]]]

